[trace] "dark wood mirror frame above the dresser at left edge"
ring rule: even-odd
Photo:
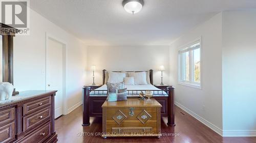
[[[10,82],[13,84],[13,37],[18,33],[14,27],[0,23],[0,35],[3,39],[3,82]],[[13,91],[13,95],[18,92]]]

